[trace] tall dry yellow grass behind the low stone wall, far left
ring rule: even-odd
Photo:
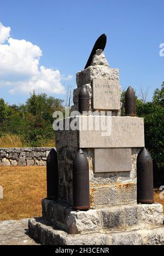
[[[18,135],[4,135],[0,137],[1,148],[22,148],[23,143],[22,139]]]

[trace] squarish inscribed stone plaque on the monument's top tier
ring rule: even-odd
[[[120,84],[118,80],[92,80],[93,109],[119,110]]]

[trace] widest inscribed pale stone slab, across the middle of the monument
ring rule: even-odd
[[[145,145],[143,118],[78,116],[77,119],[79,148],[140,148]],[[106,126],[103,129],[102,124]]]

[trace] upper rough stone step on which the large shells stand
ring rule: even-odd
[[[68,234],[153,229],[162,226],[164,219],[163,207],[159,203],[74,211],[62,202],[44,199],[42,210],[43,218]]]

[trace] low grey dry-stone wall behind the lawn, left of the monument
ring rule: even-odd
[[[52,148],[0,148],[0,166],[46,166]]]

